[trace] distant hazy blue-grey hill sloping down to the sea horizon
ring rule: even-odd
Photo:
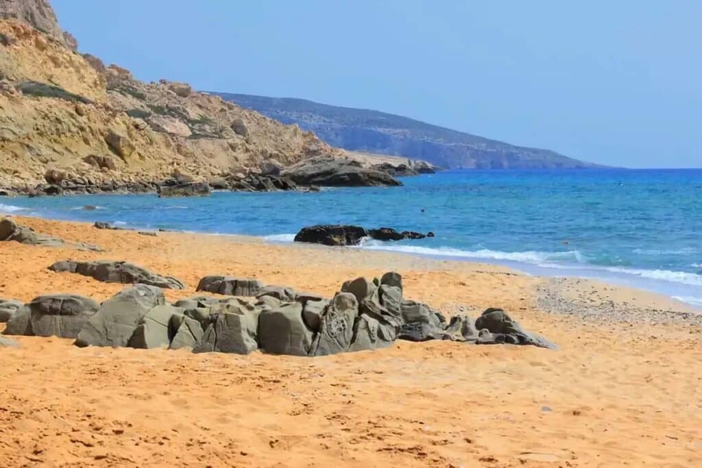
[[[303,99],[211,93],[283,123],[297,123],[333,147],[423,159],[444,168],[597,168],[548,149],[519,147],[394,114]]]

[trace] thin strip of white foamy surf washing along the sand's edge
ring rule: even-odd
[[[100,195],[100,194],[97,194]],[[109,196],[110,194],[104,194]],[[144,195],[144,194],[137,194]],[[173,199],[177,200],[177,199]],[[46,218],[41,215],[22,215],[17,213],[22,210],[29,210],[31,208],[16,207],[20,208],[18,210],[7,210],[4,211],[2,208],[7,208],[11,205],[6,203],[0,203],[0,217],[1,216],[18,216],[20,218],[36,218],[39,220],[56,220],[62,222],[90,222],[76,220],[74,218]],[[99,207],[97,208],[99,209]],[[72,210],[79,210],[79,208],[72,208]],[[120,229],[137,231],[152,231],[158,232],[158,227],[153,226],[140,226],[131,225],[127,222],[115,221],[113,225],[119,227]],[[297,246],[297,245],[311,245],[311,244],[301,244],[295,243],[289,238],[294,236],[294,234],[263,234],[263,235],[253,235],[253,234],[237,234],[237,233],[227,233],[227,232],[203,232],[203,231],[191,231],[184,229],[164,229],[164,232],[183,232],[186,234],[202,234],[207,236],[233,236],[233,237],[251,237],[253,239],[260,239],[267,243],[279,244],[281,246]],[[597,265],[588,264],[559,264],[553,263],[552,265],[544,263],[530,263],[519,260],[510,260],[508,258],[485,258],[472,255],[450,255],[444,254],[437,249],[420,248],[423,250],[436,250],[435,253],[427,253],[422,251],[413,251],[416,248],[414,246],[402,245],[394,246],[392,243],[380,241],[373,243],[371,246],[364,246],[363,244],[359,246],[352,246],[350,248],[358,248],[367,251],[376,252],[388,252],[396,253],[400,255],[409,255],[417,258],[426,258],[430,260],[439,261],[450,261],[450,262],[467,262],[468,264],[485,264],[494,265],[498,267],[508,267],[514,269],[517,272],[527,274],[529,276],[535,276],[544,279],[590,279],[595,281],[602,281],[604,283],[611,284],[612,286],[619,286],[623,288],[633,288],[636,290],[641,290],[645,293],[655,293],[663,295],[670,300],[680,302],[684,307],[689,307],[693,309],[697,314],[702,314],[702,285],[696,286],[688,283],[680,283],[676,281],[668,281],[666,279],[656,279],[644,277],[637,272],[647,272],[654,274],[658,270],[643,270],[643,269],[622,269],[616,267],[598,267]],[[502,253],[510,255],[509,253]],[[567,273],[567,274],[564,274]]]

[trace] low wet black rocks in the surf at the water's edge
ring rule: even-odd
[[[391,227],[378,229],[365,229],[352,225],[317,225],[303,227],[296,234],[296,242],[322,243],[325,246],[357,246],[364,237],[376,241],[402,241],[404,239],[424,239],[433,237],[434,233],[421,234],[420,232],[397,232]]]

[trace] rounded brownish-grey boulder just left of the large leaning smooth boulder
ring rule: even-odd
[[[100,304],[89,297],[57,294],[36,297],[26,307],[32,335],[75,338]]]

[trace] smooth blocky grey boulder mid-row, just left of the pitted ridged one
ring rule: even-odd
[[[312,335],[303,321],[303,306],[297,302],[262,312],[258,317],[258,339],[267,353],[307,356]]]

